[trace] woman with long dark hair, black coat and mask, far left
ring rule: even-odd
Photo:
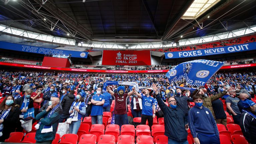
[[[0,142],[4,142],[15,131],[20,114],[18,106],[14,104],[14,97],[11,95],[5,97],[0,104]]]

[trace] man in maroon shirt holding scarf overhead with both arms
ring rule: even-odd
[[[107,86],[107,90],[111,95],[115,97],[115,109],[114,109],[115,124],[119,125],[121,129],[121,126],[124,124],[127,124],[127,120],[128,120],[126,97],[131,96],[133,94],[133,91],[124,93],[125,91],[124,86],[119,86],[117,88],[117,93],[113,92],[109,88],[109,86]]]

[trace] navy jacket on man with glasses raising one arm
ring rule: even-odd
[[[156,100],[164,113],[164,135],[180,142],[186,141],[188,132],[185,130],[185,114],[183,111],[179,107],[172,109],[166,106],[159,93],[156,95]]]

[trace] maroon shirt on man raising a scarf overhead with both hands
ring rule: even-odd
[[[126,104],[126,97],[128,96],[127,93],[123,94],[120,97],[117,93],[114,93],[115,96],[115,110],[114,114],[127,114],[127,104]]]

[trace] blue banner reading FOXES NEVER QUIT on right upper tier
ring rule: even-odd
[[[170,59],[234,53],[249,50],[256,50],[256,42],[191,51],[165,52],[164,54],[166,59]]]

